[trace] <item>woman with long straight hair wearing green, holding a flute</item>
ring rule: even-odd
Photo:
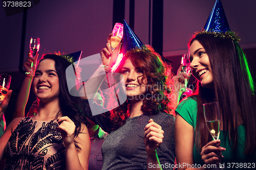
[[[256,101],[245,54],[236,40],[214,33],[196,34],[188,47],[198,85],[197,93],[176,109],[177,162],[219,164],[221,158],[227,167],[244,162],[252,167],[256,160]],[[203,104],[216,101],[221,132],[220,140],[211,141]]]

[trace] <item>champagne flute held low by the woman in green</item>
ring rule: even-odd
[[[218,102],[203,104],[204,118],[207,129],[209,130],[212,138],[218,140],[220,136],[220,123],[221,115]],[[218,152],[219,154],[219,152]],[[219,158],[219,165],[221,168],[221,160]]]

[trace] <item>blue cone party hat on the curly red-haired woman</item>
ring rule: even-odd
[[[129,27],[125,20],[123,20],[123,54],[134,48],[142,48],[143,43]]]

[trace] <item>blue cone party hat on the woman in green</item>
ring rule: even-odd
[[[204,26],[204,31],[225,33],[230,31],[221,0],[216,0]]]

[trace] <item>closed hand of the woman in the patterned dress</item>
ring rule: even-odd
[[[67,149],[71,144],[75,144],[74,137],[76,126],[68,116],[60,117],[57,121],[59,124],[57,129],[60,131],[63,143]]]

